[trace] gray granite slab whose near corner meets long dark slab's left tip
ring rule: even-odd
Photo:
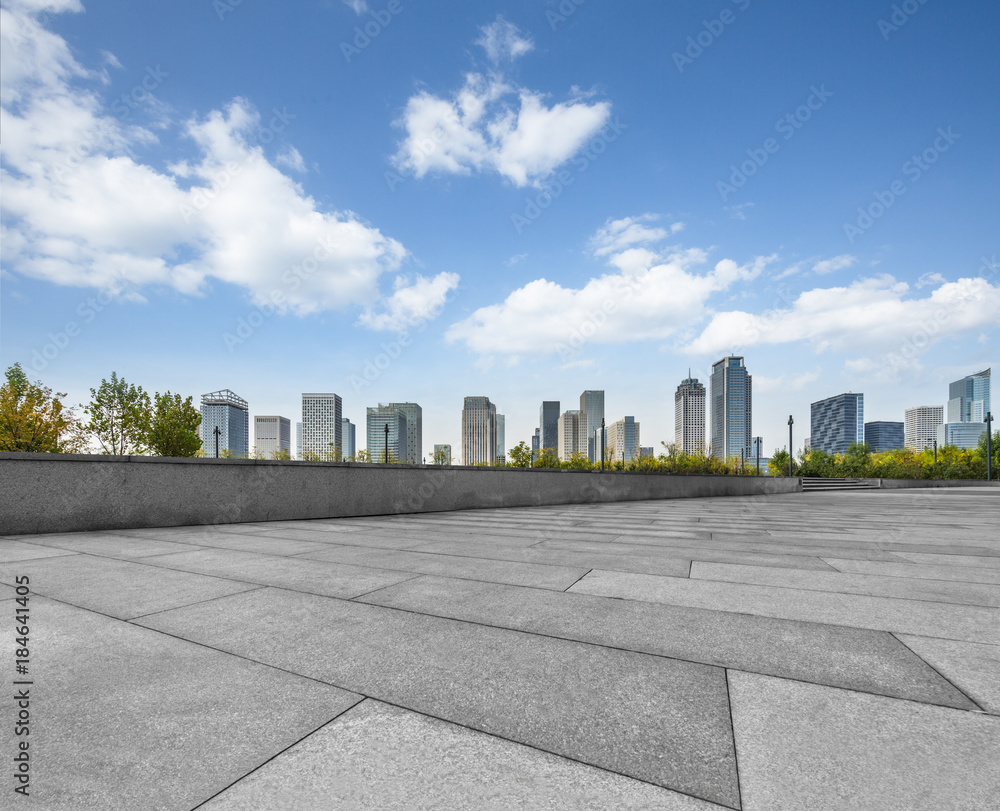
[[[237,552],[232,549],[201,549],[143,560],[185,572],[215,575],[244,583],[279,586],[329,597],[357,597],[374,589],[399,583],[414,575],[364,566],[320,560]]]

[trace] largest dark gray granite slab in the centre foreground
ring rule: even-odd
[[[701,799],[738,803],[719,668],[278,589],[139,623]]]

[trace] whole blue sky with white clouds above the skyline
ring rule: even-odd
[[[0,363],[415,401],[528,440],[604,389],[673,439],[746,357],[754,433],[997,365],[1000,8],[5,0]],[[367,33],[366,33],[367,30]]]

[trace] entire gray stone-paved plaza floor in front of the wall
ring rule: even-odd
[[[0,806],[996,809],[998,519],[956,488],[3,538]]]

